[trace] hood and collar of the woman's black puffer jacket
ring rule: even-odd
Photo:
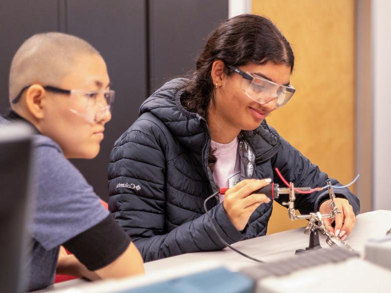
[[[167,126],[181,144],[201,155],[209,150],[210,132],[204,118],[197,113],[188,112],[180,104],[187,82],[187,79],[178,78],[164,84],[145,100],[139,115],[150,112]],[[277,153],[280,146],[277,134],[265,120],[253,131],[242,131],[241,139],[248,141],[256,163],[269,159]]]

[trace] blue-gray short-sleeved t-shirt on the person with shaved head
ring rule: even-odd
[[[109,215],[91,185],[49,137],[35,136],[33,174],[37,196],[30,227],[29,290],[53,283],[61,244]]]

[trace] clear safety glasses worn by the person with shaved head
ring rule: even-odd
[[[12,103],[18,103],[23,92],[29,87],[31,87],[31,85],[24,87]],[[115,92],[113,90],[87,92],[64,90],[52,86],[45,86],[43,88],[48,92],[68,95],[69,110],[89,123],[101,121],[107,112],[111,111],[111,105],[113,104],[115,97]]]

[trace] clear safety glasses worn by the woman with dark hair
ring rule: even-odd
[[[246,95],[259,104],[266,104],[275,100],[275,107],[284,106],[292,98],[295,88],[291,85],[284,86],[267,80],[255,73],[248,73],[235,66],[229,66],[243,77],[242,90]]]

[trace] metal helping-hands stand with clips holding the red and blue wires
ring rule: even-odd
[[[340,214],[341,212],[338,210],[338,208],[335,205],[335,194],[334,190],[332,188],[331,182],[327,182],[328,185],[328,194],[330,197],[330,202],[328,205],[331,207],[331,210],[328,214],[321,214],[320,212],[316,213],[310,213],[308,215],[297,215],[296,210],[295,210],[295,189],[294,185],[291,182],[290,183],[290,188],[289,188],[289,202],[283,202],[282,205],[288,206],[288,214],[289,218],[294,221],[298,219],[306,219],[309,220],[307,227],[304,230],[304,234],[310,235],[309,239],[309,245],[305,249],[297,249],[296,254],[298,253],[303,253],[303,252],[309,252],[313,251],[315,249],[322,248],[319,242],[319,231],[326,235],[326,243],[330,245],[331,247],[336,247],[336,246],[343,246],[350,251],[353,251],[353,249],[350,247],[349,244],[347,244],[345,241],[341,240],[334,234],[330,233],[327,231],[324,222],[322,218],[329,218],[333,219],[336,214]]]

